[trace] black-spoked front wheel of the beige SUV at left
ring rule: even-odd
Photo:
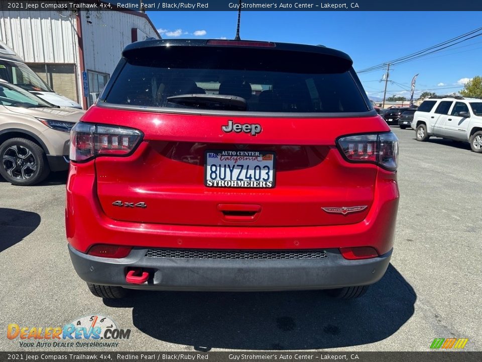
[[[49,173],[47,156],[37,143],[11,138],[0,146],[0,174],[12,185],[35,185]]]

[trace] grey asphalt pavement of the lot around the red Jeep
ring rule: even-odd
[[[482,154],[465,143],[417,142],[412,129],[393,131],[401,201],[392,262],[352,301],[317,291],[96,298],[67,252],[66,173],[27,188],[0,178],[0,350],[66,350],[21,347],[24,340],[7,338],[7,325],[56,327],[89,315],[131,329],[112,351],[426,351],[434,338],[468,338],[465,350],[482,350]]]

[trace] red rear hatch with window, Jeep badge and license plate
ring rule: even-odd
[[[346,162],[335,140],[389,129],[351,60],[326,48],[233,43],[125,50],[84,119],[143,132],[132,155],[95,160],[104,213],[205,226],[362,221],[378,168]]]

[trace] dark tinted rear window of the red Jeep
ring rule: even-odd
[[[125,56],[123,68],[101,101],[161,109],[248,112],[370,110],[351,62],[331,55],[174,46],[136,49]],[[190,97],[192,94],[196,96]],[[170,98],[175,96],[179,97]],[[231,108],[233,105],[218,96],[240,97],[246,104],[242,109],[239,104]]]

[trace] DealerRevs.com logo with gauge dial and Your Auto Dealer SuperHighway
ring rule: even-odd
[[[130,329],[117,328],[109,317],[90,315],[73,320],[63,327],[7,326],[7,338],[19,340],[20,347],[118,347],[129,339]]]

